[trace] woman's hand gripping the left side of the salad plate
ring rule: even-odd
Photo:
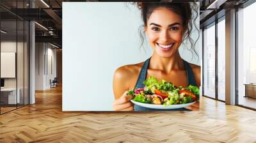
[[[127,91],[113,102],[113,109],[115,111],[131,111],[133,109],[133,104],[130,102],[132,95],[127,95]]]

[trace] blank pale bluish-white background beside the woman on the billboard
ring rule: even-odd
[[[139,48],[141,24],[140,11],[129,4],[63,3],[64,111],[113,110],[116,68],[152,54]],[[191,61],[187,51],[180,54]]]

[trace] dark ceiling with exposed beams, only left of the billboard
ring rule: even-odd
[[[24,28],[23,22],[35,20],[36,42],[51,42],[61,47],[63,1],[44,0],[44,2],[45,4],[40,0],[1,0],[1,29],[8,31],[6,34],[1,33],[1,38],[10,40],[17,35],[19,40],[23,33],[28,31],[28,28]],[[16,20],[18,20],[17,31]]]

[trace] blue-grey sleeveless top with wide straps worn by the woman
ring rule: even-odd
[[[136,82],[135,88],[143,88],[144,87],[143,82],[147,78],[147,69],[148,69],[150,58],[148,58],[145,61],[145,63],[143,64],[143,67],[140,70],[140,74],[139,74],[138,80]],[[188,85],[197,86],[192,68],[190,67],[190,65],[187,61],[183,60],[183,62],[184,62],[184,68],[187,72]],[[141,107],[139,105],[134,105],[134,110],[135,111],[163,111],[163,110],[189,110],[189,109],[181,108],[181,109],[161,109],[160,110],[160,109],[148,109],[146,107]]]

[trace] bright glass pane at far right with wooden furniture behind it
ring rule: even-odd
[[[256,109],[256,3],[237,11],[238,105]]]

